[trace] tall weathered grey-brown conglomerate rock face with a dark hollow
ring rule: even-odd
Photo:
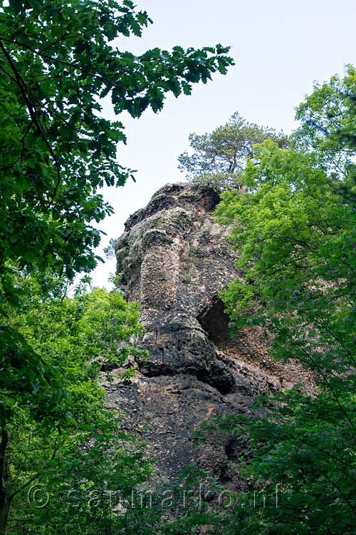
[[[244,444],[208,432],[194,447],[192,431],[248,412],[256,394],[308,377],[297,365],[272,362],[256,328],[231,340],[219,292],[244,274],[236,270],[229,229],[211,215],[218,203],[211,188],[167,184],[127,220],[115,248],[117,272],[127,299],[142,305],[146,333],[137,344],[149,356],[130,382],[117,377],[108,385],[108,399],[127,409],[124,425],[147,439],[161,481],[197,464],[243,490],[233,462]]]

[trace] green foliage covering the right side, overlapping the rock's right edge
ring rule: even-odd
[[[224,193],[216,210],[234,222],[246,270],[224,294],[234,333],[262,325],[271,355],[297,359],[316,382],[309,392],[266,395],[265,417],[233,424],[251,445],[245,474],[266,494],[281,491],[278,507],[236,510],[253,533],[356,530],[355,101],[351,66],[344,79],[315,86],[298,108],[294,146],[258,146],[248,193]]]

